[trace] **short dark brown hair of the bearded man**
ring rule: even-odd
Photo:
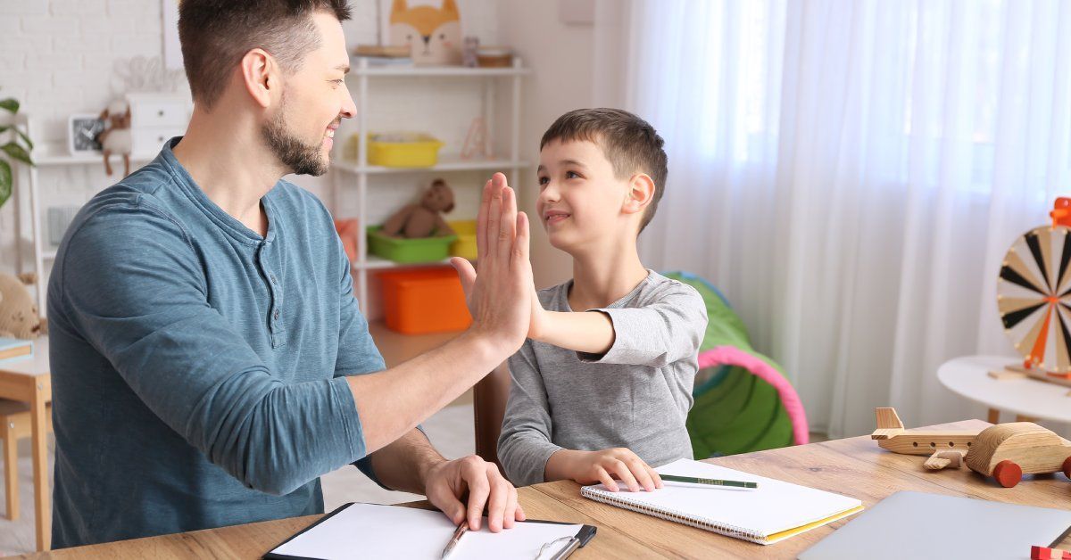
[[[347,0],[182,0],[179,43],[194,101],[211,108],[235,65],[254,48],[275,57],[284,72],[296,72],[305,54],[319,47],[316,12],[340,21],[350,17]]]

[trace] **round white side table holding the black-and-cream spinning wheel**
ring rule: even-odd
[[[968,355],[949,360],[937,368],[937,379],[953,393],[990,407],[991,424],[1000,410],[1015,413],[1016,422],[1052,420],[1071,423],[1071,388],[1036,379],[993,379],[990,372],[1021,363],[1020,357]]]

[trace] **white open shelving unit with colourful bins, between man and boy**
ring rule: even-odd
[[[334,212],[340,208],[341,191],[351,185],[347,179],[356,176],[356,190],[358,199],[358,223],[361,230],[368,225],[367,221],[367,199],[368,179],[372,176],[386,173],[438,173],[446,171],[503,171],[508,172],[510,184],[518,184],[521,169],[528,167],[528,162],[519,157],[521,150],[521,82],[522,78],[529,74],[519,58],[513,59],[513,66],[499,69],[483,67],[462,67],[462,66],[427,66],[427,67],[393,67],[393,66],[369,66],[367,60],[357,59],[357,66],[347,76],[351,87],[356,85],[357,99],[357,134],[358,134],[358,160],[346,161],[340,158],[332,163],[331,181],[331,205]],[[436,77],[442,79],[476,79],[483,80],[483,117],[488,134],[496,130],[495,126],[495,82],[499,79],[509,79],[512,87],[512,110],[510,113],[510,140],[508,143],[508,157],[472,158],[464,160],[456,154],[440,154],[438,163],[432,167],[424,168],[396,168],[368,165],[368,106],[369,81],[380,77],[406,78],[406,77]],[[366,316],[368,314],[368,271],[382,270],[395,267],[414,267],[420,264],[396,263],[368,255],[367,237],[363,233],[358,239],[358,256],[351,263],[355,279],[358,284],[358,301],[361,303],[361,311]],[[423,264],[443,264],[447,261],[431,262]]]

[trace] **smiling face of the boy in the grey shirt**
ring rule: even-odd
[[[622,212],[629,178],[618,179],[599,145],[553,140],[540,152],[536,211],[550,244],[572,252],[635,234],[635,213]]]

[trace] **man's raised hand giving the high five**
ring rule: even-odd
[[[528,248],[528,216],[517,212],[516,195],[506,176],[495,173],[484,185],[477,217],[477,267],[463,258],[450,263],[465,288],[470,330],[504,345],[508,353],[521,348],[530,327],[533,283]]]

